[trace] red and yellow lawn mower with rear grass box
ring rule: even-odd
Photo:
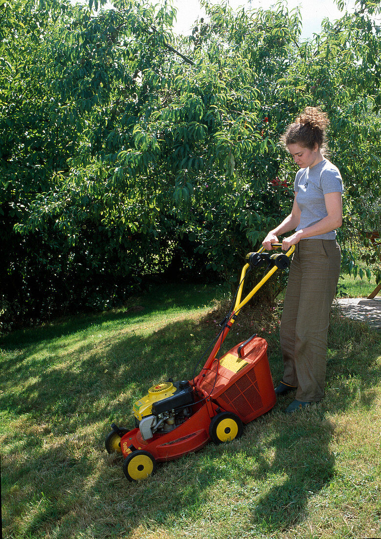
[[[239,438],[243,424],[274,406],[276,395],[264,338],[252,335],[221,358],[220,350],[242,307],[277,269],[288,267],[294,250],[295,246],[291,246],[286,253],[271,254],[262,247],[246,255],[248,262],[242,269],[232,306],[200,373],[191,380],[174,382],[170,378],[152,386],[133,405],[135,429],[111,425],[105,447],[108,453],[122,453],[127,479],[145,479],[155,471],[157,462],[199,450],[209,440],[221,444]],[[264,277],[241,300],[251,267],[266,263]]]

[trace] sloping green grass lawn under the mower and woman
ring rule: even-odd
[[[153,383],[192,376],[222,296],[157,287],[129,308],[0,338],[4,538],[381,537],[381,334],[337,309],[318,405],[288,417],[293,396],[281,397],[239,440],[159,464],[143,482],[105,451],[110,424],[132,427]],[[277,321],[253,316],[224,349],[258,331],[277,382]]]

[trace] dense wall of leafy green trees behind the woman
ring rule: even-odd
[[[345,246],[361,197],[381,195],[378,4],[302,43],[298,10],[204,7],[183,38],[167,2],[0,5],[10,316],[104,308],[175,268],[235,279],[290,210],[295,170],[278,140],[306,105],[331,118]]]

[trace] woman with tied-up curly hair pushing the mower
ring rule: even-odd
[[[282,141],[300,167],[295,176],[292,211],[263,241],[267,250],[278,235],[295,230],[282,242],[295,245],[290,266],[280,345],[283,379],[277,395],[296,389],[287,413],[318,402],[324,396],[329,313],[340,275],[337,227],[342,223],[343,184],[340,172],[324,157],[329,120],[307,107],[288,126]]]

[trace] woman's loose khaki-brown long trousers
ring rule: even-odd
[[[287,384],[296,399],[324,396],[329,313],[340,275],[336,240],[303,239],[295,248],[280,323],[280,345]]]

